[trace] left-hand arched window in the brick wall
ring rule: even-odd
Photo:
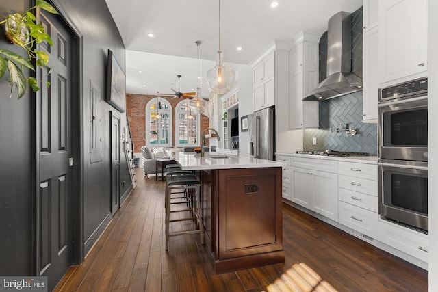
[[[164,98],[146,105],[146,145],[172,146],[172,107]]]

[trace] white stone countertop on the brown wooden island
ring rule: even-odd
[[[214,153],[214,152],[213,152]],[[181,165],[182,170],[218,170],[230,168],[281,168],[286,163],[281,161],[270,161],[253,157],[240,157],[233,155],[222,155],[219,153],[205,153],[205,157],[194,152],[175,152],[175,160]],[[226,157],[226,158],[214,158]]]

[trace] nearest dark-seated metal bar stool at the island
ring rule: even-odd
[[[172,194],[172,189],[183,189],[186,194],[190,197],[190,209],[184,210],[171,210],[170,209],[170,199]],[[165,208],[166,208],[166,250],[168,250],[169,237],[177,235],[187,235],[193,233],[199,233],[201,236],[201,243],[204,244],[204,227],[201,220],[201,209],[200,209],[200,193],[201,193],[201,183],[192,174],[185,175],[173,175],[168,176],[166,180],[166,196],[164,198]],[[181,212],[181,211],[191,211],[192,217],[179,218],[170,220],[170,214]],[[179,222],[185,220],[193,220],[195,224],[194,230],[181,231],[176,233],[169,232],[169,225],[172,222]]]

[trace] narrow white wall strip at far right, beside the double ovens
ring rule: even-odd
[[[428,0],[429,291],[438,291],[438,1]],[[433,150],[432,150],[433,149]],[[435,178],[435,179],[434,179]],[[433,191],[432,191],[433,190]]]

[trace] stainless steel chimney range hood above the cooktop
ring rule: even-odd
[[[351,72],[351,14],[338,12],[329,19],[327,77],[302,101],[325,101],[362,90],[362,79]]]

